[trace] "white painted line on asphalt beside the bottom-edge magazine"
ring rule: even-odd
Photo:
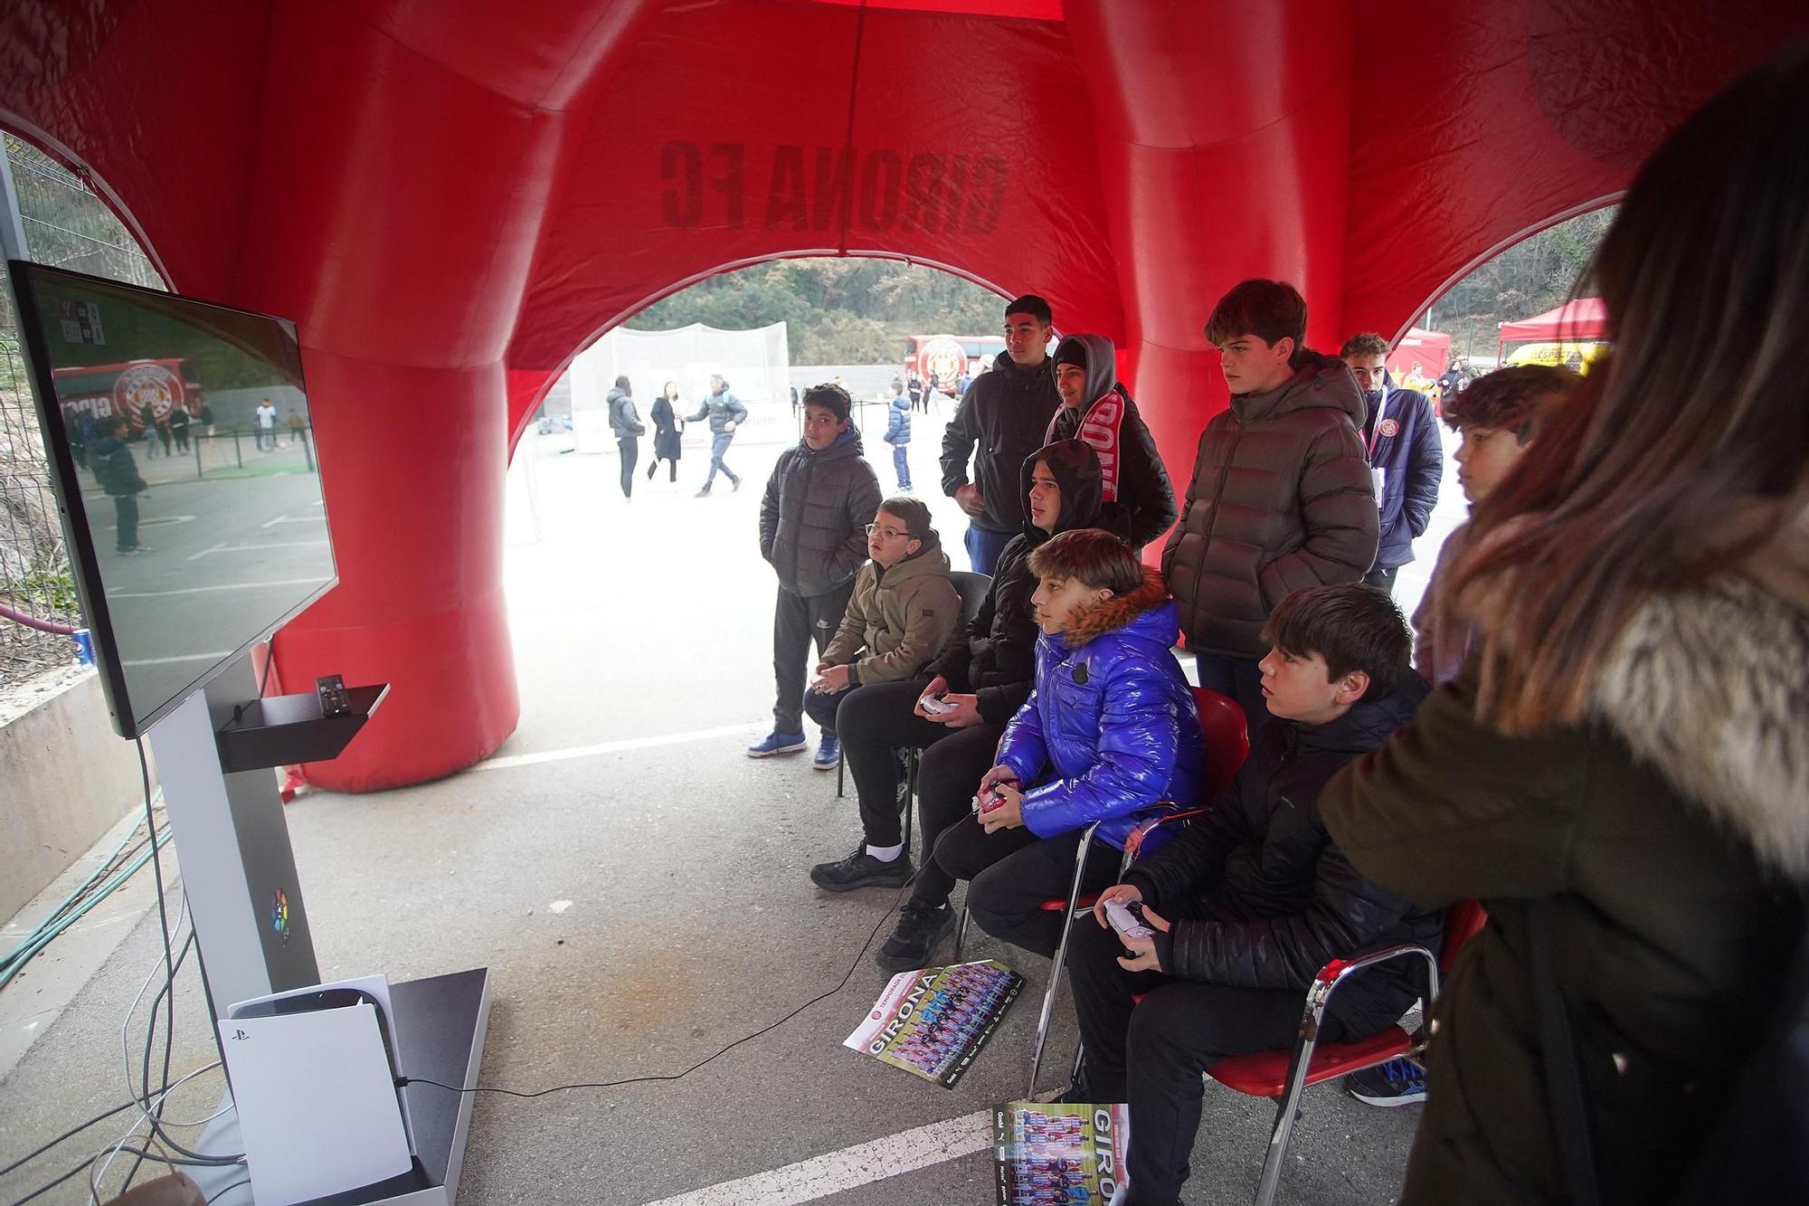
[[[993,1146],[993,1112],[977,1110],[885,1139],[829,1152],[648,1206],[798,1206]]]

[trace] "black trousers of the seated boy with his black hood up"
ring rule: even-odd
[[[899,766],[892,751],[923,750],[917,759],[917,829],[926,855],[912,895],[939,907],[948,902],[955,880],[935,866],[928,851],[935,849],[944,829],[973,811],[973,793],[980,786],[980,775],[993,768],[1004,728],[948,728],[924,721],[912,710],[928,684],[919,679],[857,686],[843,701],[836,728],[854,775],[868,846],[897,846],[904,840],[897,808]]]

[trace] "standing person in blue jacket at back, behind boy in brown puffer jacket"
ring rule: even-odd
[[[1362,442],[1369,453],[1380,540],[1364,583],[1395,592],[1395,576],[1413,560],[1415,538],[1425,534],[1438,505],[1445,455],[1431,400],[1388,378],[1388,340],[1375,333],[1351,335],[1339,348],[1364,400]]]

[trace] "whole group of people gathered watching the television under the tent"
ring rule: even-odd
[[[1717,246],[1710,234],[1729,223],[1769,248],[1742,261],[1742,272],[1769,284],[1728,282],[1720,302],[1702,302],[1702,321],[1720,322],[1719,304],[1740,311],[1751,331],[1776,333],[1776,313],[1789,308],[1773,299],[1789,288],[1800,301],[1802,279],[1787,284],[1791,270],[1780,264],[1809,263],[1809,168],[1767,147],[1762,132],[1782,120],[1778,105],[1809,109],[1809,53],[1766,71],[1755,72],[1760,83],[1719,98],[1713,118],[1699,114],[1672,136],[1688,150],[1661,150],[1643,170],[1597,257],[1612,315],[1644,304],[1637,282],[1659,288],[1639,275],[1653,246],[1695,255]],[[1702,201],[1717,187],[1702,156],[1726,159],[1726,172],[1751,187],[1751,205]],[[1747,163],[1753,156],[1764,163]],[[1679,205],[1677,196],[1700,203]],[[1655,243],[1666,223],[1695,237]],[[970,565],[990,576],[984,598],[970,589],[964,601],[950,579],[928,507],[879,498],[848,395],[836,386],[803,395],[803,440],[780,458],[762,505],[762,552],[778,574],[778,699],[774,732],[749,753],[805,750],[809,713],[823,732],[816,764],[847,761],[861,835],[810,878],[832,893],[910,885],[876,952],[888,971],[933,963],[955,925],[950,896],[961,880],[980,929],[1047,956],[1066,913],[1042,902],[1067,895],[1082,831],[1098,822],[1080,873],[1082,889],[1100,893],[1098,924],[1075,924],[1067,962],[1085,1052],[1067,1099],[1129,1103],[1125,1201],[1161,1206],[1179,1201],[1189,1175],[1205,1068],[1290,1047],[1302,992],[1324,963],[1402,942],[1436,951],[1444,905],[1485,896],[1491,922],[1474,940],[1485,952],[1447,981],[1431,1029],[1431,1094],[1406,1061],[1351,1077],[1351,1092],[1373,1105],[1429,1101],[1404,1201],[1570,1199],[1577,1139],[1565,1132],[1576,1128],[1561,1125],[1559,1097],[1541,1088],[1552,1076],[1538,1054],[1550,1019],[1529,1019],[1554,1009],[1534,985],[1539,962],[1572,985],[1594,985],[1570,994],[1605,1001],[1597,1012],[1556,1005],[1574,1012],[1565,1025],[1581,1032],[1572,1076],[1583,1097],[1619,1103],[1612,1121],[1596,1114],[1594,1153],[1585,1141],[1583,1163],[1605,1182],[1601,1201],[1657,1201],[1688,1168],[1728,1101],[1740,1052],[1764,1029],[1769,998],[1747,989],[1782,967],[1800,933],[1787,876],[1809,867],[1802,824],[1755,820],[1776,804],[1755,802],[1751,786],[1795,782],[1796,808],[1804,799],[1809,757],[1780,737],[1791,728],[1778,723],[1780,695],[1715,694],[1722,713],[1713,721],[1753,733],[1751,748],[1762,748],[1735,766],[1729,753],[1691,750],[1720,742],[1697,732],[1713,726],[1690,721],[1688,694],[1664,697],[1661,674],[1684,665],[1673,646],[1686,641],[1675,634],[1688,636],[1697,610],[1758,616],[1753,623],[1771,625],[1785,661],[1809,656],[1791,627],[1809,610],[1809,407],[1800,384],[1795,393],[1778,388],[1796,409],[1773,406],[1766,426],[1753,416],[1771,395],[1757,386],[1740,386],[1740,397],[1755,398],[1746,407],[1675,404],[1679,422],[1695,424],[1704,442],[1744,440],[1740,465],[1751,473],[1735,483],[1702,476],[1699,489],[1720,491],[1735,520],[1699,560],[1666,563],[1666,581],[1740,607],[1713,612],[1662,594],[1628,603],[1614,623],[1634,614],[1643,643],[1597,641],[1577,679],[1592,686],[1579,688],[1554,674],[1561,666],[1538,639],[1525,639],[1541,628],[1514,628],[1532,625],[1514,607],[1536,596],[1547,608],[1539,623],[1559,645],[1612,634],[1610,621],[1565,603],[1577,596],[1565,594],[1561,574],[1489,572],[1543,565],[1549,545],[1514,516],[1532,502],[1567,516],[1559,500],[1570,491],[1644,507],[1641,525],[1626,529],[1634,536],[1603,518],[1612,509],[1567,520],[1576,541],[1594,541],[1594,556],[1641,574],[1657,554],[1634,558],[1626,541],[1679,516],[1617,493],[1632,469],[1599,471],[1614,456],[1634,465],[1644,455],[1614,445],[1615,424],[1605,416],[1644,424],[1646,447],[1675,451],[1672,476],[1695,473],[1704,453],[1659,435],[1670,416],[1646,418],[1637,391],[1675,386],[1675,373],[1659,369],[1672,362],[1662,357],[1724,340],[1664,342],[1655,324],[1630,324],[1615,349],[1626,378],[1608,380],[1603,366],[1588,378],[1529,366],[1447,393],[1442,418],[1460,440],[1454,458],[1473,523],[1444,543],[1409,627],[1389,594],[1427,529],[1442,449],[1429,400],[1391,386],[1386,340],[1360,333],[1339,357],[1321,355],[1302,344],[1306,306],[1292,286],[1243,281],[1225,293],[1205,335],[1219,349],[1230,406],[1207,422],[1176,503],[1149,429],[1116,380],[1111,340],[1067,335],[1047,355],[1051,321],[1035,295],[1006,306],[1006,351],[966,389],[944,435],[942,489],[970,520],[964,543]],[[1776,346],[1789,342],[1780,335]],[[1158,572],[1141,552],[1163,532]],[[1760,550],[1767,565],[1729,585],[1729,567],[1747,572],[1740,567]],[[1574,570],[1583,574],[1597,561],[1570,565],[1590,567]],[[1503,589],[1509,581],[1514,590]],[[1503,636],[1514,632],[1518,646]],[[819,659],[807,690],[812,636]],[[1248,759],[1214,799],[1201,799],[1207,751],[1174,654],[1181,639],[1199,684],[1236,699],[1250,730]],[[1511,656],[1516,648],[1536,652]],[[1693,681],[1764,677],[1760,654],[1735,648],[1731,672],[1695,665]],[[1804,683],[1778,681],[1778,690],[1789,701]],[[1798,732],[1800,723],[1795,715]],[[921,866],[901,828],[912,806],[908,751],[917,759]],[[1677,770],[1690,759],[1713,773]],[[1151,831],[1120,873],[1132,833],[1178,809],[1199,813]],[[1507,837],[1491,838],[1498,833]],[[1626,871],[1632,849],[1650,871]],[[1585,875],[1586,866],[1596,871]],[[1624,918],[1565,904],[1612,896],[1628,875],[1644,878],[1624,889]],[[1652,913],[1646,902],[1661,898],[1679,907]],[[1556,918],[1550,929],[1572,934],[1568,945],[1541,929],[1541,900]],[[1151,933],[1107,927],[1109,902],[1140,907]],[[1610,960],[1637,967],[1639,978],[1592,971]],[[1335,994],[1321,1038],[1351,1041],[1391,1027],[1422,992],[1409,962],[1366,969]],[[1740,1012],[1740,1025],[1722,1025],[1728,1010]],[[1440,1032],[1458,1018],[1465,1034]],[[1675,1043],[1664,1038],[1672,1030]]]

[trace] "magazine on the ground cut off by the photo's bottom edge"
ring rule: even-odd
[[[999,1206],[1107,1206],[1125,1184],[1129,1117],[1123,1105],[993,1106]]]

